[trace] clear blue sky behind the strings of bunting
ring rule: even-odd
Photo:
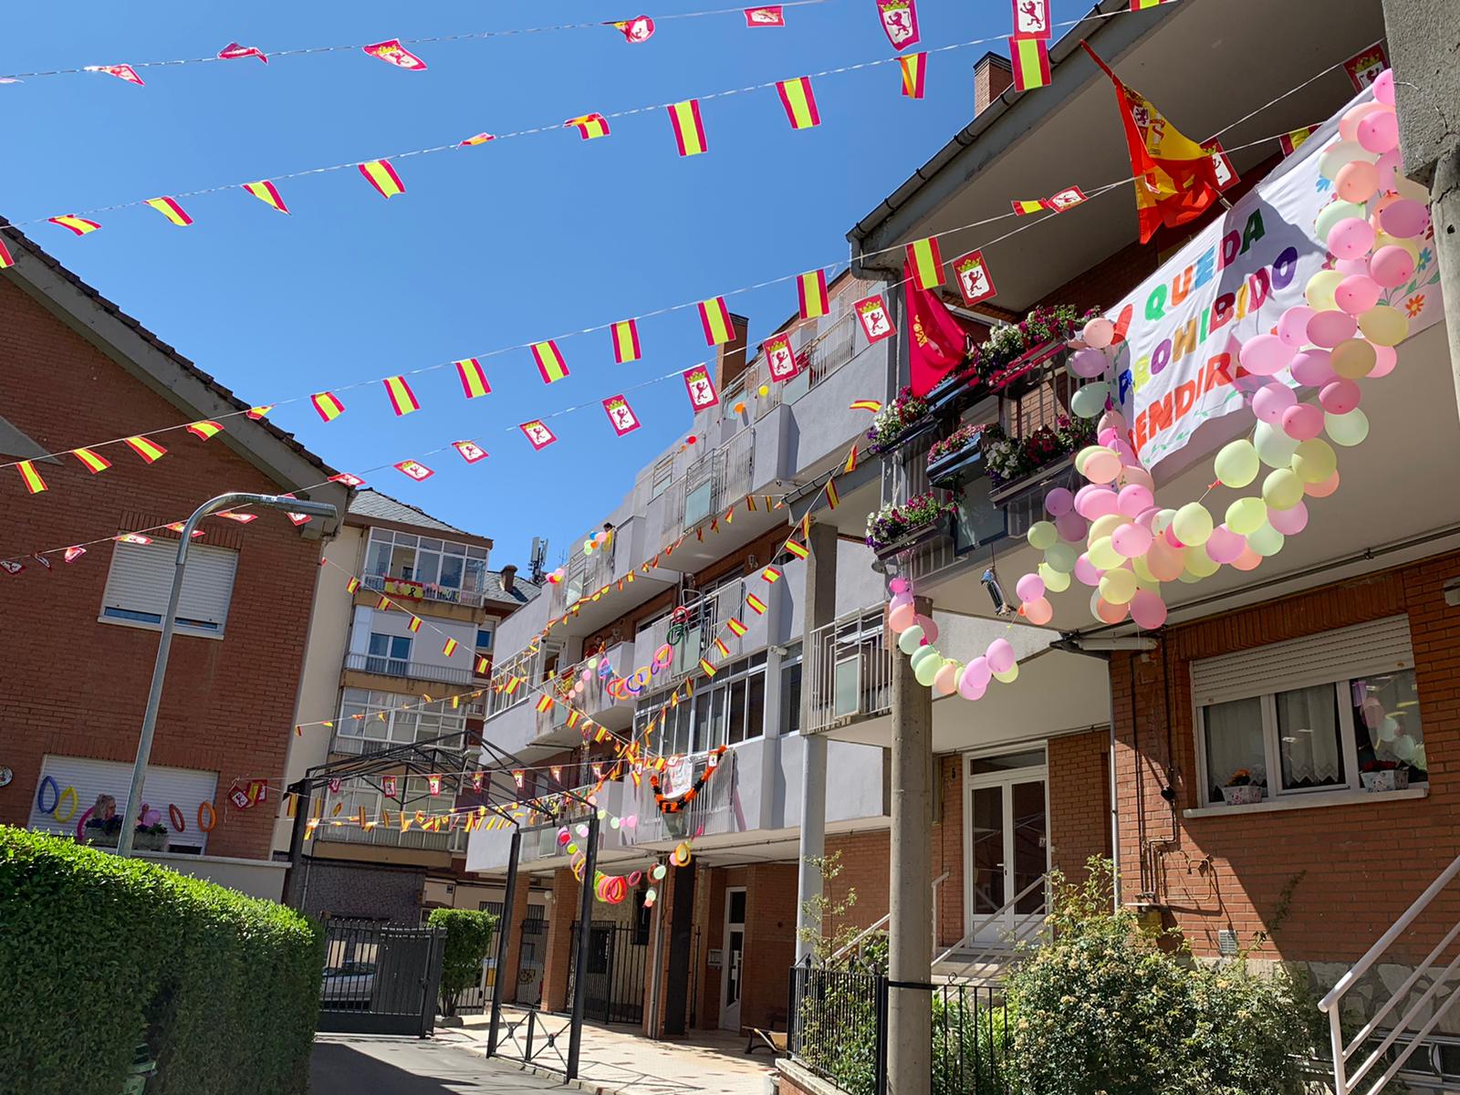
[[[0,72],[661,16],[604,0],[422,9],[350,4],[77,3],[7,12]],[[669,6],[673,3],[673,6]],[[1083,6],[1057,3],[1056,18]],[[924,47],[1007,34],[1004,0],[920,0]],[[142,70],[146,88],[102,74],[0,86],[6,172],[0,213],[22,222],[120,201],[270,178],[743,88],[892,54],[872,0],[787,10],[785,29],[739,15],[661,19],[629,45],[612,28],[416,47],[428,72],[358,51]],[[184,201],[190,228],[146,207],[98,213],[102,231],[26,231],[239,396],[301,396],[607,323],[829,264],[847,228],[972,112],[986,47],[936,54],[921,102],[896,66],[815,85],[822,124],[793,131],[774,89],[712,99],[710,150],[680,159],[663,111],[615,120],[604,140],[553,131],[396,161],[406,193],[384,201],[353,169],[280,182],[285,218],[241,190]],[[752,342],[794,311],[791,283],[730,299]],[[359,470],[482,438],[491,458],[431,458],[412,483],[374,486],[495,539],[496,565],[526,562],[533,536],[549,566],[631,488],[634,472],[691,423],[677,380],[629,402],[644,426],[615,438],[597,406],[553,422],[533,453],[515,425],[600,400],[705,356],[694,311],[645,320],[644,359],[615,365],[606,333],[562,340],[571,369],[543,385],[526,350],[485,362],[492,394],[466,402],[454,371],[415,381],[422,410],[390,413],[375,385],[340,393],[346,413],[310,407],[276,420],[327,461]],[[168,422],[133,423],[153,429]],[[510,432],[508,432],[510,431]],[[98,438],[73,438],[74,444]]]

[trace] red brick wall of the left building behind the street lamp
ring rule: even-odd
[[[187,418],[10,282],[0,282],[0,361],[6,419],[48,451]],[[161,442],[168,454],[150,466],[107,448],[112,467],[96,476],[72,457],[41,463],[50,489],[35,496],[13,470],[0,474],[0,558],[180,520],[225,491],[279,489],[222,437]],[[283,777],[320,542],[280,514],[204,529],[201,543],[239,550],[226,634],[174,639],[152,764],[216,771],[220,821],[207,851],[267,858],[274,812],[225,810],[223,797],[235,778]],[[50,556],[51,571],[0,575],[0,619],[13,623],[0,673],[3,761],[15,769],[0,790],[0,822],[26,823],[45,753],[136,756],[158,634],[98,622],[112,549],[93,545],[69,565]]]

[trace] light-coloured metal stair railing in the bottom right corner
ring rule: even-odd
[[[1419,994],[1416,1000],[1409,1003],[1405,1013],[1393,1022],[1391,1026],[1383,1026],[1384,1021],[1397,1007],[1407,1002],[1410,991],[1419,984],[1419,980],[1434,969],[1440,956],[1450,948],[1460,936],[1460,923],[1451,927],[1444,937],[1434,946],[1434,949],[1425,956],[1424,962],[1415,967],[1415,971],[1405,978],[1403,984],[1394,990],[1383,1007],[1364,1023],[1362,1029],[1353,1035],[1352,1040],[1345,1044],[1343,1029],[1342,1029],[1342,1013],[1343,1013],[1343,997],[1356,986],[1359,980],[1367,974],[1384,953],[1399,942],[1399,937],[1409,930],[1410,924],[1419,918],[1429,902],[1432,902],[1454,880],[1456,875],[1460,875],[1460,857],[1453,860],[1448,867],[1445,867],[1440,877],[1429,883],[1424,894],[1421,894],[1415,904],[1405,910],[1405,915],[1394,921],[1394,924],[1378,937],[1378,942],[1368,949],[1368,952],[1353,968],[1349,969],[1339,983],[1329,990],[1329,994],[1318,1002],[1318,1009],[1326,1012],[1329,1016],[1329,1038],[1333,1047],[1333,1092],[1334,1095],[1350,1095],[1350,1092],[1358,1091],[1358,1085],[1374,1070],[1380,1063],[1388,1061],[1388,1067],[1384,1073],[1369,1086],[1365,1095],[1375,1095],[1383,1091],[1384,1086],[1394,1079],[1396,1073],[1405,1066],[1410,1054],[1418,1050],[1431,1031],[1440,1023],[1460,993],[1453,987],[1444,996],[1444,999],[1437,1000],[1437,996],[1451,980],[1456,969],[1460,968],[1460,953],[1454,958],[1431,980],[1429,987]],[[1416,1021],[1426,1016],[1428,1019],[1418,1029],[1413,1026]],[[1384,1037],[1380,1038],[1380,1034]],[[1378,1038],[1377,1042],[1374,1040]],[[1403,1040],[1403,1045],[1399,1042]],[[1364,1058],[1362,1064],[1349,1072],[1349,1060],[1362,1048],[1372,1044],[1368,1057]],[[1393,1050],[1393,1053],[1391,1053]]]

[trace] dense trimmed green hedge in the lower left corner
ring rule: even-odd
[[[307,1092],[323,936],[145,860],[0,826],[0,1095]]]

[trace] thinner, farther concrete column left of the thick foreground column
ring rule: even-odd
[[[816,628],[837,618],[837,529],[829,524],[813,524],[807,540],[810,556],[806,559],[806,602],[802,613],[802,818],[800,847],[796,867],[796,961],[812,953],[815,945],[804,939],[807,931],[821,931],[821,917],[807,914],[806,902],[815,901],[822,892],[822,876],[810,864],[812,858],[826,854],[826,739],[809,734],[812,692],[816,688],[812,666],[818,664],[812,654]]]

